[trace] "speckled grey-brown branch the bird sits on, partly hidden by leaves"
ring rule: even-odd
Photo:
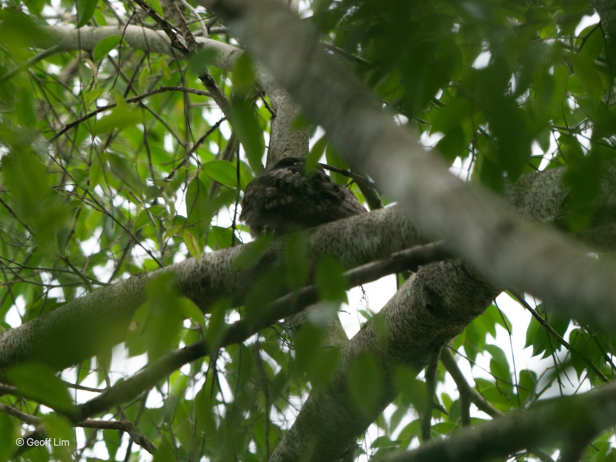
[[[320,226],[307,238],[307,248],[313,264],[318,256],[326,254],[352,268],[425,241],[407,217],[389,208]],[[3,331],[0,368],[37,361],[62,370],[123,341],[132,315],[145,301],[148,282],[159,274],[172,274],[180,293],[204,311],[221,298],[231,297],[234,304],[240,304],[249,282],[282,264],[285,256],[286,241],[275,241],[258,270],[242,271],[240,261],[255,245],[222,249],[204,254],[200,261],[187,259],[137,275]]]

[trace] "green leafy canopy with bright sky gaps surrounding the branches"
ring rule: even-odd
[[[0,6],[2,329],[25,325],[129,277],[142,291],[126,318],[97,318],[118,325],[111,343],[124,341],[125,348],[112,353],[108,344],[91,347],[87,351],[96,351],[94,356],[61,375],[49,364],[2,363],[7,384],[0,397],[0,460],[16,453],[41,461],[140,460],[147,452],[161,461],[269,459],[307,397],[327,390],[347,358],[346,336],[332,346],[327,333],[346,298],[347,264],[311,256],[309,238],[300,233],[285,243],[285,264],[260,271],[262,258],[276,245],[265,237],[234,261],[238,272],[254,270],[258,276],[249,287],[237,288],[245,294],[241,303],[233,290],[221,289],[224,296],[214,297],[207,309],[177,286],[173,269],[151,278],[145,274],[199,259],[203,249],[214,253],[249,240],[237,220],[238,205],[248,182],[264,169],[270,140],[285,136],[273,133],[274,113],[282,124],[290,111],[290,125],[309,132],[309,163],[325,160],[344,170],[346,161],[317,126],[267,94],[267,71],[253,56],[225,55],[240,51],[241,44],[220,6],[205,9],[193,0],[30,0]],[[460,176],[505,195],[524,176],[566,166],[562,184],[554,188],[567,193],[567,213],[550,221],[578,236],[613,221],[609,203],[598,200],[606,194],[606,163],[616,152],[616,45],[590,4],[318,0],[302,2],[301,9],[328,52]],[[78,27],[84,28],[73,33]],[[171,46],[168,35],[158,36],[166,48],[144,32],[165,29],[176,36]],[[191,37],[197,38],[195,47]],[[215,43],[229,48],[217,49]],[[379,155],[387,161],[387,153]],[[340,170],[331,177],[373,205],[370,188]],[[392,201],[380,199],[385,205]],[[233,283],[245,281],[237,277]],[[318,316],[297,331],[284,330],[282,323],[250,330],[269,315],[270,302],[310,283],[325,301]],[[207,284],[203,277],[201,285]],[[131,291],[128,284],[122,287]],[[570,394],[573,384],[587,390],[613,381],[613,336],[513,295],[519,310],[535,317],[519,325],[494,303],[475,314],[451,339],[452,351],[468,369],[466,379],[456,376],[455,360],[444,352],[434,408],[415,369],[395,368],[389,383],[381,380],[389,374],[384,359],[358,354],[349,360],[344,380],[350,402],[360,414],[378,415],[368,437],[360,436],[355,458],[376,460],[416,447],[426,413],[438,440],[527,408],[554,384]],[[133,300],[121,291],[114,296]],[[358,317],[385,330],[376,310],[361,309]],[[237,320],[248,327],[234,341],[225,325]],[[84,327],[84,333],[96,328]],[[498,331],[525,333],[532,355],[551,358],[551,365],[521,368],[515,361],[519,352],[512,359],[508,346],[496,344]],[[81,348],[63,344],[67,338],[57,331],[51,344],[58,352]],[[172,353],[182,355],[182,347],[198,342],[203,354],[180,361],[129,402],[110,401],[105,411],[87,415],[96,420],[78,419],[75,427],[76,404],[136,376],[145,362],[171,362]],[[0,352],[4,347],[0,343]],[[386,393],[395,399],[383,410]],[[614,433],[604,430],[597,428],[565,454],[614,460]],[[24,447],[22,454],[14,441],[28,435],[67,445]],[[522,447],[527,452],[515,455],[522,460],[548,460],[554,449]],[[508,450],[496,455],[513,456]]]

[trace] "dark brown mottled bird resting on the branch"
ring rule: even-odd
[[[287,157],[246,186],[240,220],[253,235],[281,234],[360,213],[355,195],[322,168],[307,175],[304,160]]]

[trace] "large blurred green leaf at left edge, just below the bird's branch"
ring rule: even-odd
[[[15,365],[7,370],[6,375],[28,399],[58,411],[68,411],[73,407],[67,386],[49,366],[37,363]]]

